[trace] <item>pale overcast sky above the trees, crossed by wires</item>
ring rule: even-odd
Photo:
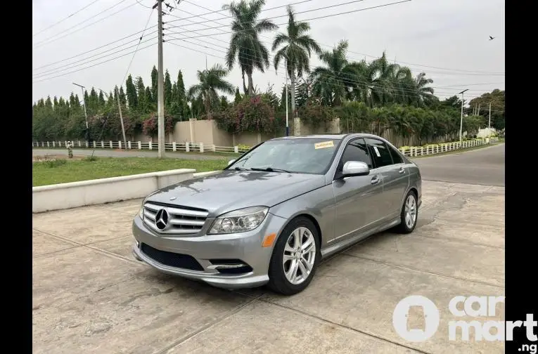
[[[260,18],[271,19],[279,25],[277,32],[283,32],[285,6],[291,4],[297,20],[308,20],[310,35],[322,49],[331,50],[346,39],[348,60],[370,61],[385,51],[389,60],[409,67],[415,76],[425,72],[440,98],[464,89],[468,89],[466,100],[493,89],[504,90],[504,1],[392,4],[398,1],[266,0]],[[207,67],[224,65],[231,18],[221,11],[223,0],[165,2],[176,8],[170,12],[163,5],[167,13],[163,21],[168,22],[164,25],[164,67],[172,81],[181,70],[188,89],[196,84],[196,72],[204,70],[206,62]],[[66,98],[71,92],[81,96],[73,82],[88,91],[92,86],[112,91],[115,85],[124,86],[127,72],[133,78],[141,76],[150,86],[151,69],[158,64],[154,0],[33,0],[32,4],[32,103],[46,96]],[[269,50],[275,34],[262,34]],[[138,50],[132,53],[141,36]],[[489,36],[495,38],[489,40]],[[260,91],[273,85],[279,94],[285,73],[275,70],[272,55],[270,59],[269,69],[255,72],[253,81]],[[320,64],[313,55],[311,67]],[[227,79],[242,87],[237,67]]]

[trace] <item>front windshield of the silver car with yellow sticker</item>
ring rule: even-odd
[[[333,162],[338,142],[322,138],[270,140],[238,159],[229,169],[322,174]]]

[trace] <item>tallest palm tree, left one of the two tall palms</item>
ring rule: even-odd
[[[226,53],[226,65],[231,70],[236,60],[241,66],[243,75],[243,87],[245,87],[244,74],[248,77],[247,92],[249,95],[254,93],[254,84],[252,83],[252,72],[257,69],[264,72],[269,67],[269,52],[258,38],[258,34],[271,31],[277,26],[267,19],[258,20],[258,16],[265,5],[264,0],[241,0],[238,3],[231,2],[222,6],[233,17],[231,23],[231,40],[230,48]]]

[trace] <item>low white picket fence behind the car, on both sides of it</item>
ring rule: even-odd
[[[452,143],[440,143],[426,146],[411,146],[400,147],[400,151],[405,156],[416,157],[425,155],[435,155],[442,152],[449,152],[460,149],[467,149],[469,147],[475,147],[494,143],[498,140],[497,137],[492,138],[476,138],[472,140],[454,141]],[[142,143],[141,141],[127,141],[127,146],[122,141],[94,141],[89,144],[87,141],[76,140],[73,141],[73,147],[81,148],[95,148],[95,149],[120,149],[120,150],[157,150],[156,143]],[[68,140],[65,141],[33,141],[32,147],[43,148],[66,148]],[[243,153],[248,149],[240,146],[217,146],[207,145],[204,143],[166,143],[165,150],[176,152],[225,152],[225,153]]]

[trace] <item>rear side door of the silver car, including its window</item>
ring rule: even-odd
[[[382,140],[366,138],[373,163],[383,176],[385,219],[395,218],[402,209],[404,193],[409,185],[409,172],[402,157]],[[392,151],[391,151],[392,150]]]

